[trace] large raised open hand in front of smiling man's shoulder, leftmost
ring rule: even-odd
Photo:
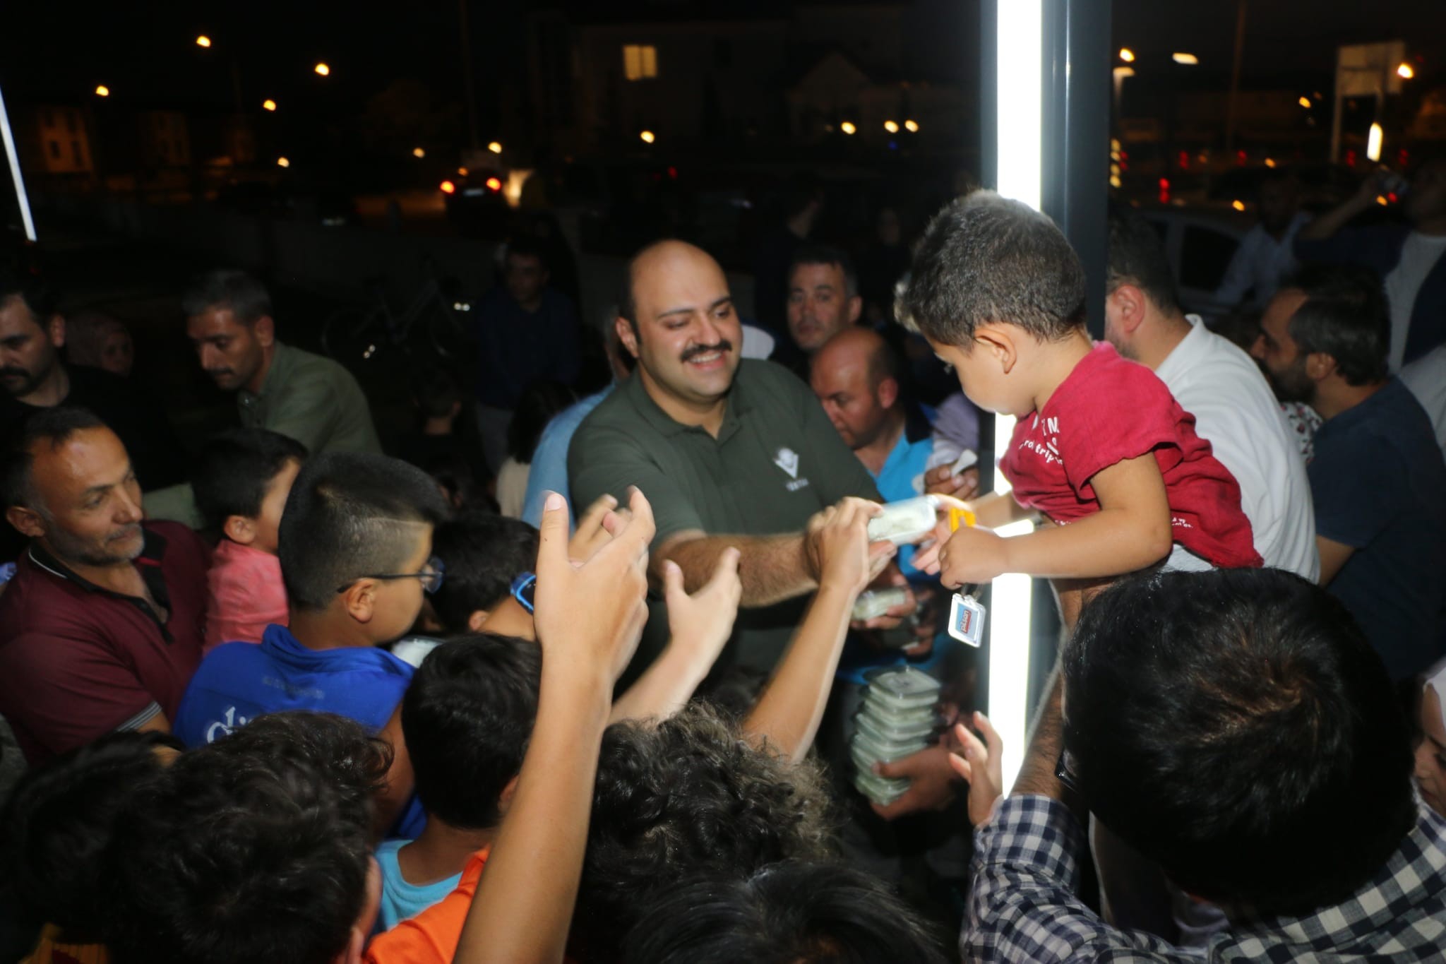
[[[629,506],[630,517],[615,519],[610,541],[596,548],[590,559],[576,562],[568,558],[567,500],[557,493],[548,494],[534,611],[544,672],[577,671],[612,687],[638,647],[648,621],[643,601],[648,545],[656,526],[652,507],[636,489]]]

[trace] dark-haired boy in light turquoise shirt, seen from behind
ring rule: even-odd
[[[379,929],[437,903],[474,854],[486,858],[516,789],[541,675],[535,642],[490,633],[442,643],[416,671],[402,701],[402,734],[427,828],[376,851]]]

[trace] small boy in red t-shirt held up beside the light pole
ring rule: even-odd
[[[992,191],[951,202],[920,241],[902,309],[975,405],[1019,419],[999,462],[1014,493],[972,503],[980,528],[941,528],[915,567],[957,587],[1261,565],[1239,484],[1194,416],[1150,369],[1090,341],[1084,270],[1050,218]],[[1056,525],[989,532],[1035,510]]]

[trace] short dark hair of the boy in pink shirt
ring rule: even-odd
[[[263,428],[237,428],[201,447],[191,490],[208,529],[220,529],[230,516],[256,519],[266,490],[286,462],[305,462],[307,447]]]

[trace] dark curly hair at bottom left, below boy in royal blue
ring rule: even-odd
[[[324,713],[268,714],[184,753],[136,793],[106,853],[111,960],[334,960],[362,916],[389,760]]]

